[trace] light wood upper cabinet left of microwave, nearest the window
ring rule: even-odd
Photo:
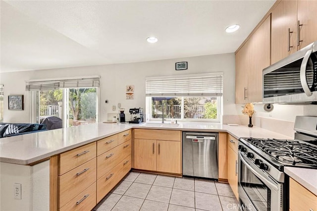
[[[236,52],[236,104],[262,102],[262,70],[270,65],[271,16]]]

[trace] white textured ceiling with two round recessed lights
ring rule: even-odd
[[[274,2],[1,0],[0,71],[231,53]]]

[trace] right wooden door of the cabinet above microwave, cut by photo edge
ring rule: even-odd
[[[298,0],[297,3],[300,50],[317,40],[317,0]]]

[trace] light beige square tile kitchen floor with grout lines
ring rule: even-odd
[[[234,211],[228,184],[130,172],[93,211]]]

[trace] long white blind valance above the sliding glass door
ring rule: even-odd
[[[55,90],[59,88],[87,88],[100,87],[100,77],[89,78],[72,78],[72,79],[48,79],[48,80],[34,80],[27,81],[26,91],[44,91]]]

